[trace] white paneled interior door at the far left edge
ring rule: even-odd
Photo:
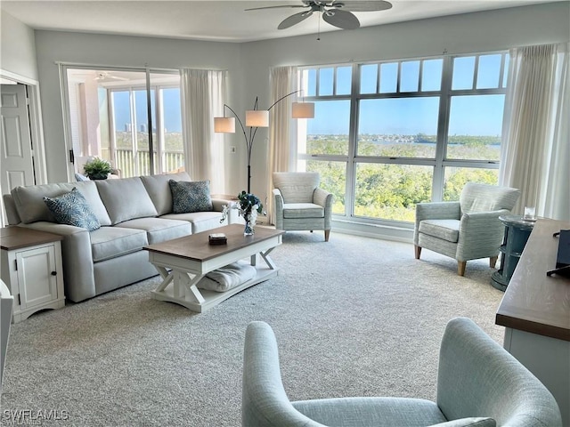
[[[33,185],[34,160],[26,85],[0,85],[0,186],[2,194],[19,185]]]

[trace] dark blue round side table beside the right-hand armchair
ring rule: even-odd
[[[499,248],[501,266],[491,276],[491,285],[504,292],[525,249],[535,220],[523,220],[520,215],[501,215],[499,220],[505,225],[505,235]]]

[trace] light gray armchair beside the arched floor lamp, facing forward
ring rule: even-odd
[[[324,230],[329,241],[332,194],[319,188],[316,172],[274,172],[275,228],[277,230]]]

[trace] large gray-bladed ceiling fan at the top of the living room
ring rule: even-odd
[[[338,28],[354,29],[360,27],[360,21],[352,12],[377,12],[386,11],[392,4],[383,0],[302,0],[303,4],[281,4],[278,6],[263,6],[246,9],[246,11],[256,11],[260,9],[277,9],[284,7],[304,8],[305,11],[295,13],[285,20],[282,20],[278,29],[292,27],[299,22],[306,20],[314,12],[321,12],[322,19]]]

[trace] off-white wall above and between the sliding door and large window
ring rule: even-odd
[[[240,113],[253,107],[256,96],[259,96],[260,106],[269,106],[269,71],[272,67],[413,58],[440,55],[444,51],[451,54],[488,52],[569,41],[569,16],[570,3],[559,2],[327,32],[322,33],[320,41],[316,36],[297,36],[246,44],[37,31],[37,68],[42,91],[48,178],[49,181],[66,180],[67,153],[63,144],[56,61],[128,67],[228,69],[231,88],[228,103]],[[266,138],[266,131],[260,129],[252,158],[252,190],[262,200],[266,197]],[[227,171],[232,177],[226,192],[237,194],[247,181],[243,137],[239,133],[227,135],[226,145],[234,145],[239,150],[238,154],[226,157]]]

